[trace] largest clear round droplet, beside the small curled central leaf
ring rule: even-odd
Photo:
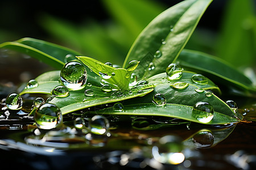
[[[60,71],[60,80],[69,90],[80,90],[85,87],[87,71],[79,62],[68,62]]]

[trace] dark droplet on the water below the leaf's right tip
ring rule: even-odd
[[[206,148],[213,145],[214,136],[210,131],[200,131],[193,136],[192,141],[196,148]]]

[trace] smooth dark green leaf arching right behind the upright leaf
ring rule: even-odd
[[[204,74],[217,84],[229,86],[229,88],[230,86],[236,87],[238,90],[244,92],[256,91],[249,78],[240,73],[236,67],[230,65],[230,63],[221,58],[210,56],[209,54],[202,52],[184,49],[180,53],[177,62],[179,62],[184,69]]]

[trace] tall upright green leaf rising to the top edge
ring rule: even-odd
[[[141,64],[134,73],[139,79],[161,73],[159,69],[166,68],[179,56],[210,2],[212,0],[183,1],[162,12],[138,36],[123,67],[137,59]],[[158,50],[160,55],[154,57]],[[155,68],[148,69],[152,64]]]

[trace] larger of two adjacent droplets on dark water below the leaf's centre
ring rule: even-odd
[[[93,134],[106,134],[109,129],[109,121],[103,116],[93,116],[92,119],[90,120],[90,131]]]

